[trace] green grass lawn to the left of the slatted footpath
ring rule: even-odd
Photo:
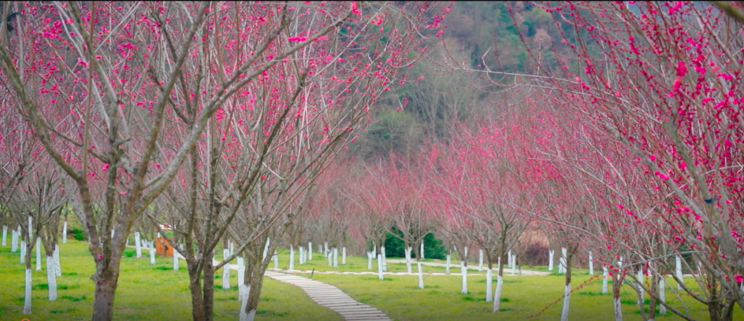
[[[10,244],[10,241],[8,241]],[[69,240],[60,244],[62,277],[57,278],[58,299],[48,301],[46,271],[33,270],[31,316],[22,314],[24,300],[24,267],[19,253],[0,247],[0,320],[90,320],[94,272],[88,244]],[[35,252],[34,252],[35,253]],[[135,249],[126,251],[115,300],[115,320],[191,320],[186,263],[173,271],[173,259],[158,257],[150,265],[150,256],[134,257]],[[129,256],[129,257],[126,257]],[[35,255],[32,255],[35,262]],[[34,269],[32,264],[31,268]],[[42,267],[46,267],[45,263]],[[217,271],[222,276],[221,270]],[[222,290],[215,281],[214,320],[237,320],[237,276],[231,273],[231,290]],[[257,320],[342,320],[339,314],[312,302],[300,288],[266,278],[263,282]]]

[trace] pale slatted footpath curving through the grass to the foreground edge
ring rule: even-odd
[[[357,302],[343,291],[333,285],[308,279],[303,276],[295,276],[284,273],[266,271],[264,276],[268,276],[277,281],[289,283],[300,287],[310,299],[330,308],[341,314],[344,320],[362,321],[362,320],[391,320],[385,312],[376,308]]]

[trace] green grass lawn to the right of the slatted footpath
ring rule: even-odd
[[[417,276],[385,276],[385,280],[380,281],[376,276],[315,274],[312,279],[336,285],[354,299],[385,311],[394,320],[420,321],[526,320],[527,316],[559,299],[564,282],[563,276],[505,276],[501,312],[493,314],[492,303],[485,302],[485,276],[469,277],[470,293],[466,295],[460,294],[460,276],[424,276],[426,287],[423,290],[417,288]],[[574,276],[574,287],[588,279],[586,273],[585,276]],[[612,283],[609,287],[612,289]],[[624,320],[640,320],[635,291],[629,285],[623,285],[621,291]],[[601,279],[574,291],[571,320],[614,320],[612,296],[600,292]],[[673,297],[667,289],[667,298]],[[682,299],[697,320],[708,320],[705,306],[689,296],[682,296]],[[561,307],[562,302],[550,305],[532,320],[559,320]],[[682,318],[667,314],[656,320]],[[744,320],[744,314],[738,308],[734,320]]]

